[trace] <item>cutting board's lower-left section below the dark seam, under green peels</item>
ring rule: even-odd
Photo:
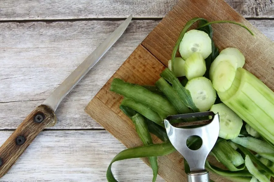
[[[132,121],[119,109],[122,96],[111,92],[109,90],[110,84],[113,78],[121,78],[130,83],[150,85],[160,78],[160,72],[163,69],[165,69],[165,66],[142,45],[139,45],[86,106],[86,112],[126,147],[131,148],[142,145]],[[160,140],[154,136],[153,142],[159,143]],[[177,152],[159,157],[158,174],[167,181],[186,181],[186,174],[183,170],[184,164],[181,158],[181,154]],[[146,160],[145,162],[148,163]],[[212,179],[217,180],[220,178],[213,175]]]

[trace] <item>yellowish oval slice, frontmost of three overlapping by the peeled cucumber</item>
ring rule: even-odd
[[[212,76],[212,84],[217,92],[225,92],[230,88],[236,75],[236,68],[228,61],[218,64]]]

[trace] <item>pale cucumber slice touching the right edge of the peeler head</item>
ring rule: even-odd
[[[224,103],[214,104],[210,110],[213,113],[219,113],[220,116],[220,131],[219,137],[224,139],[234,139],[241,131],[243,126],[243,120],[234,113],[229,107]]]

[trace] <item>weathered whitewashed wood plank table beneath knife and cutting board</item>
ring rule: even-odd
[[[274,40],[274,2],[226,0]],[[133,14],[126,32],[65,97],[58,123],[43,131],[0,181],[106,181],[125,147],[84,112],[175,0],[0,0],[0,144],[109,35]],[[170,45],[173,46],[173,45]],[[141,160],[114,163],[120,181],[150,181]],[[158,177],[157,181],[164,181]]]

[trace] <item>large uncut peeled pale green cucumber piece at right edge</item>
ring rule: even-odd
[[[234,88],[235,94],[231,97],[220,97],[221,101],[262,137],[274,143],[273,91],[247,70],[237,68],[237,72],[234,80],[240,80],[240,85]]]

